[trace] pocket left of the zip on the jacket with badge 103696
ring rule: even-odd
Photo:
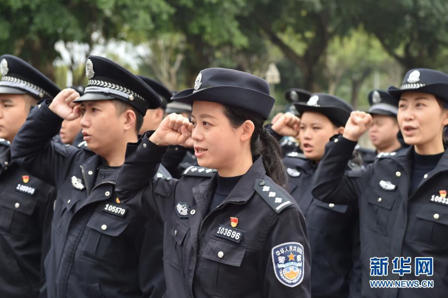
[[[183,274],[184,240],[190,228],[176,220],[170,231],[171,237],[163,253],[163,261]]]

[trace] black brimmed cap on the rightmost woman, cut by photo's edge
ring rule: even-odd
[[[397,100],[403,92],[414,91],[432,94],[448,103],[448,75],[427,68],[411,69],[400,88],[390,86],[387,91]]]

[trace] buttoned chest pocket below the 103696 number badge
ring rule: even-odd
[[[211,238],[205,241],[198,265],[200,269],[196,272],[202,288],[216,297],[239,297],[244,279],[240,266],[246,248]]]

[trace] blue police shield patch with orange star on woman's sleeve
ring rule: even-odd
[[[274,273],[280,283],[295,287],[303,280],[303,246],[298,242],[287,242],[272,248]]]

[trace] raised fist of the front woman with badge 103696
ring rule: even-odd
[[[171,113],[162,120],[149,140],[158,146],[179,145],[191,137],[192,131],[193,124],[188,118]]]

